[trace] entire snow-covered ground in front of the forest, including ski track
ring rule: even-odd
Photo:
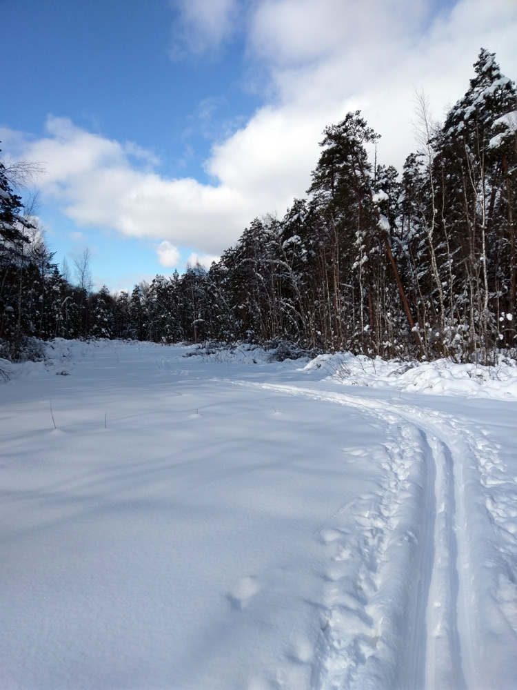
[[[0,688],[515,689],[517,368],[192,352],[3,363]]]

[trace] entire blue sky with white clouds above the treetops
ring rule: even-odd
[[[361,110],[401,169],[415,97],[443,119],[480,48],[517,78],[516,0],[0,0],[0,154],[45,172],[54,262],[94,285],[210,266],[305,195],[323,128]]]

